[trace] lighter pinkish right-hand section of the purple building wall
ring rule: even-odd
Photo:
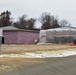
[[[19,44],[34,44],[34,40],[39,39],[39,33],[36,32],[18,32]]]

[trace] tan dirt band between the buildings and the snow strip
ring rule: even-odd
[[[57,45],[57,44],[48,44],[48,45],[1,45],[1,53],[9,54],[9,53],[23,53],[23,52],[31,52],[31,51],[52,51],[52,50],[65,50],[65,49],[76,49],[76,46],[70,46],[69,44],[65,45]]]

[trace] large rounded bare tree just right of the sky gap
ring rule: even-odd
[[[58,19],[47,12],[42,13],[42,15],[39,18],[39,21],[42,23],[42,29],[59,27]]]

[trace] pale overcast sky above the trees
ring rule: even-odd
[[[39,18],[42,12],[48,12],[59,20],[68,20],[73,27],[76,27],[75,7],[76,0],[0,0],[0,13],[9,10],[15,20],[23,14]],[[38,22],[37,27],[40,27]]]

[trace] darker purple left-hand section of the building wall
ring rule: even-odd
[[[13,43],[16,44],[18,42],[18,32],[17,31],[5,31],[3,32],[5,44]]]

